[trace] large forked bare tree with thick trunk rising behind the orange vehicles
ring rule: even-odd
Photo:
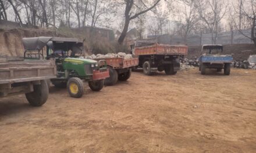
[[[122,5],[125,6],[125,25],[118,39],[119,44],[122,44],[125,40],[130,21],[155,8],[160,1],[161,0],[154,1],[150,7],[148,7],[143,1],[125,0],[125,2],[122,3]]]

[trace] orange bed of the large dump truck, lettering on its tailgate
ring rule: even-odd
[[[159,45],[156,43],[151,46],[136,47],[134,55],[147,54],[168,54],[168,55],[187,55],[187,46],[181,45]]]

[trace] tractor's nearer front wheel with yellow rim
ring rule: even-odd
[[[70,78],[67,81],[67,92],[70,97],[80,98],[84,94],[84,83],[80,78]]]

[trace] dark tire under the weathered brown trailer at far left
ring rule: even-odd
[[[33,86],[34,92],[25,94],[27,101],[34,107],[43,105],[48,99],[49,89],[47,81],[41,80],[40,82],[40,85]]]

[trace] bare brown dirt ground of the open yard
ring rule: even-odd
[[[0,152],[256,152],[256,71],[145,76],[47,103],[0,99]]]

